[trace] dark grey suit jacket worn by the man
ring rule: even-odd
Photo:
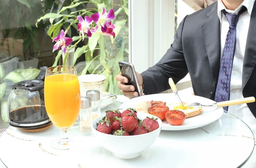
[[[215,99],[221,61],[220,20],[217,2],[186,16],[180,23],[175,40],[163,58],[141,75],[144,93],[170,89],[168,80],[177,83],[189,72],[195,95]],[[256,3],[250,18],[243,72],[244,97],[256,97]],[[256,117],[256,102],[247,104]]]

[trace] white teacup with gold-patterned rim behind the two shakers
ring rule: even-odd
[[[87,74],[78,76],[81,96],[86,96],[88,90],[99,90],[102,99],[103,87],[106,80],[104,75]]]

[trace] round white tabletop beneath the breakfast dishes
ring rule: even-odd
[[[102,109],[102,113],[118,108],[127,99],[118,96],[116,102]],[[171,168],[235,168],[242,165],[252,168],[255,162],[255,156],[249,159],[255,144],[253,133],[230,113],[224,113],[221,119],[201,128],[161,131],[150,148],[139,157],[127,160],[116,158],[100,145],[101,139],[96,139],[92,133],[81,134],[77,127],[71,128],[69,135],[79,142],[80,148],[54,150],[50,142],[59,136],[59,132],[54,126],[38,133],[24,133],[9,127],[0,136],[0,159],[8,168],[20,165],[26,168],[84,168],[99,167],[104,163],[106,168],[112,167],[111,163],[122,168],[167,165]]]

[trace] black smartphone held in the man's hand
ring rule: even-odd
[[[136,84],[136,76],[134,75],[136,72],[133,72],[132,67],[128,64],[119,64],[122,76],[128,79],[128,83],[125,83],[125,85],[133,85],[135,87],[135,91],[139,93],[140,96],[140,91],[137,87]]]

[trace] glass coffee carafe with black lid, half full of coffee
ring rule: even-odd
[[[12,85],[8,117],[10,125],[22,129],[37,129],[52,123],[45,110],[44,76]]]

